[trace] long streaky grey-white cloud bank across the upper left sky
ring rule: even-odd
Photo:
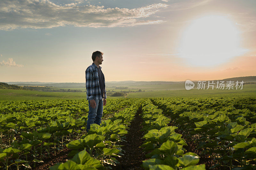
[[[78,1],[79,2],[79,1]],[[17,28],[53,28],[59,26],[116,27],[162,23],[144,20],[167,4],[151,4],[140,8],[105,8],[79,3],[54,4],[49,0],[1,0],[0,30]]]

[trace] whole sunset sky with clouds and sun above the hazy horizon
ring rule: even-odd
[[[1,0],[0,82],[256,75],[255,0]]]

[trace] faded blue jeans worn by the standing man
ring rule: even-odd
[[[86,127],[87,132],[90,129],[91,124],[96,123],[100,125],[101,123],[101,117],[103,112],[103,99],[95,100],[95,102],[96,102],[96,107],[93,108],[91,107],[90,101],[89,101],[89,113],[88,113],[87,127]]]

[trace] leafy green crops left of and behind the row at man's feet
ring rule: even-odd
[[[108,100],[103,120],[129,107],[132,100]],[[0,101],[0,162],[31,168],[85,134],[88,101]]]

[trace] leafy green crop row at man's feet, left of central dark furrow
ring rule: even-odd
[[[124,135],[128,133],[128,125],[134,119],[139,103],[133,102],[131,107],[115,113],[110,120],[105,120],[100,125],[92,124],[86,135],[66,144],[72,149],[69,156],[73,158],[65,163],[57,163],[50,170],[97,170],[119,163],[115,158],[123,155],[123,145],[119,143],[124,141]]]

